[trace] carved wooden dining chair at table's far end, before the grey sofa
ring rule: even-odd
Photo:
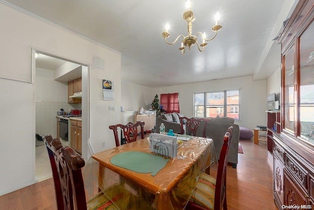
[[[209,118],[187,118],[187,117],[179,117],[181,123],[181,134],[184,134],[183,124],[185,121],[185,133],[191,136],[196,135],[196,131],[200,122],[204,122],[204,129],[202,137],[206,138],[206,129],[207,123],[210,121]]]

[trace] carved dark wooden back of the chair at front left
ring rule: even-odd
[[[58,210],[86,210],[86,198],[81,168],[85,161],[72,148],[63,147],[60,140],[52,139],[51,135],[44,135],[47,146],[55,197]]]

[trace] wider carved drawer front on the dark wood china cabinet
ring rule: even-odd
[[[286,168],[291,176],[294,177],[300,184],[302,184],[305,189],[309,189],[307,183],[308,173],[288,154],[286,154]]]

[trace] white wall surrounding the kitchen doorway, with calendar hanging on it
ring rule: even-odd
[[[1,75],[11,71],[17,79],[29,78],[25,74],[31,70],[31,47],[89,65],[89,75],[84,77],[89,77],[85,82],[89,84],[90,142],[94,151],[115,147],[108,140],[112,131],[106,128],[120,121],[120,109],[109,112],[108,106],[121,105],[121,54],[1,2],[0,29]],[[105,69],[94,67],[94,56],[105,60]],[[102,79],[115,83],[114,101],[103,100]],[[35,81],[0,79],[0,195],[35,182],[35,87]],[[106,140],[107,147],[102,148]],[[87,139],[83,144],[86,156]]]

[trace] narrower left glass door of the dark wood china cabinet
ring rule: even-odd
[[[284,128],[294,131],[294,45],[289,49],[285,59],[285,98],[284,98]]]

